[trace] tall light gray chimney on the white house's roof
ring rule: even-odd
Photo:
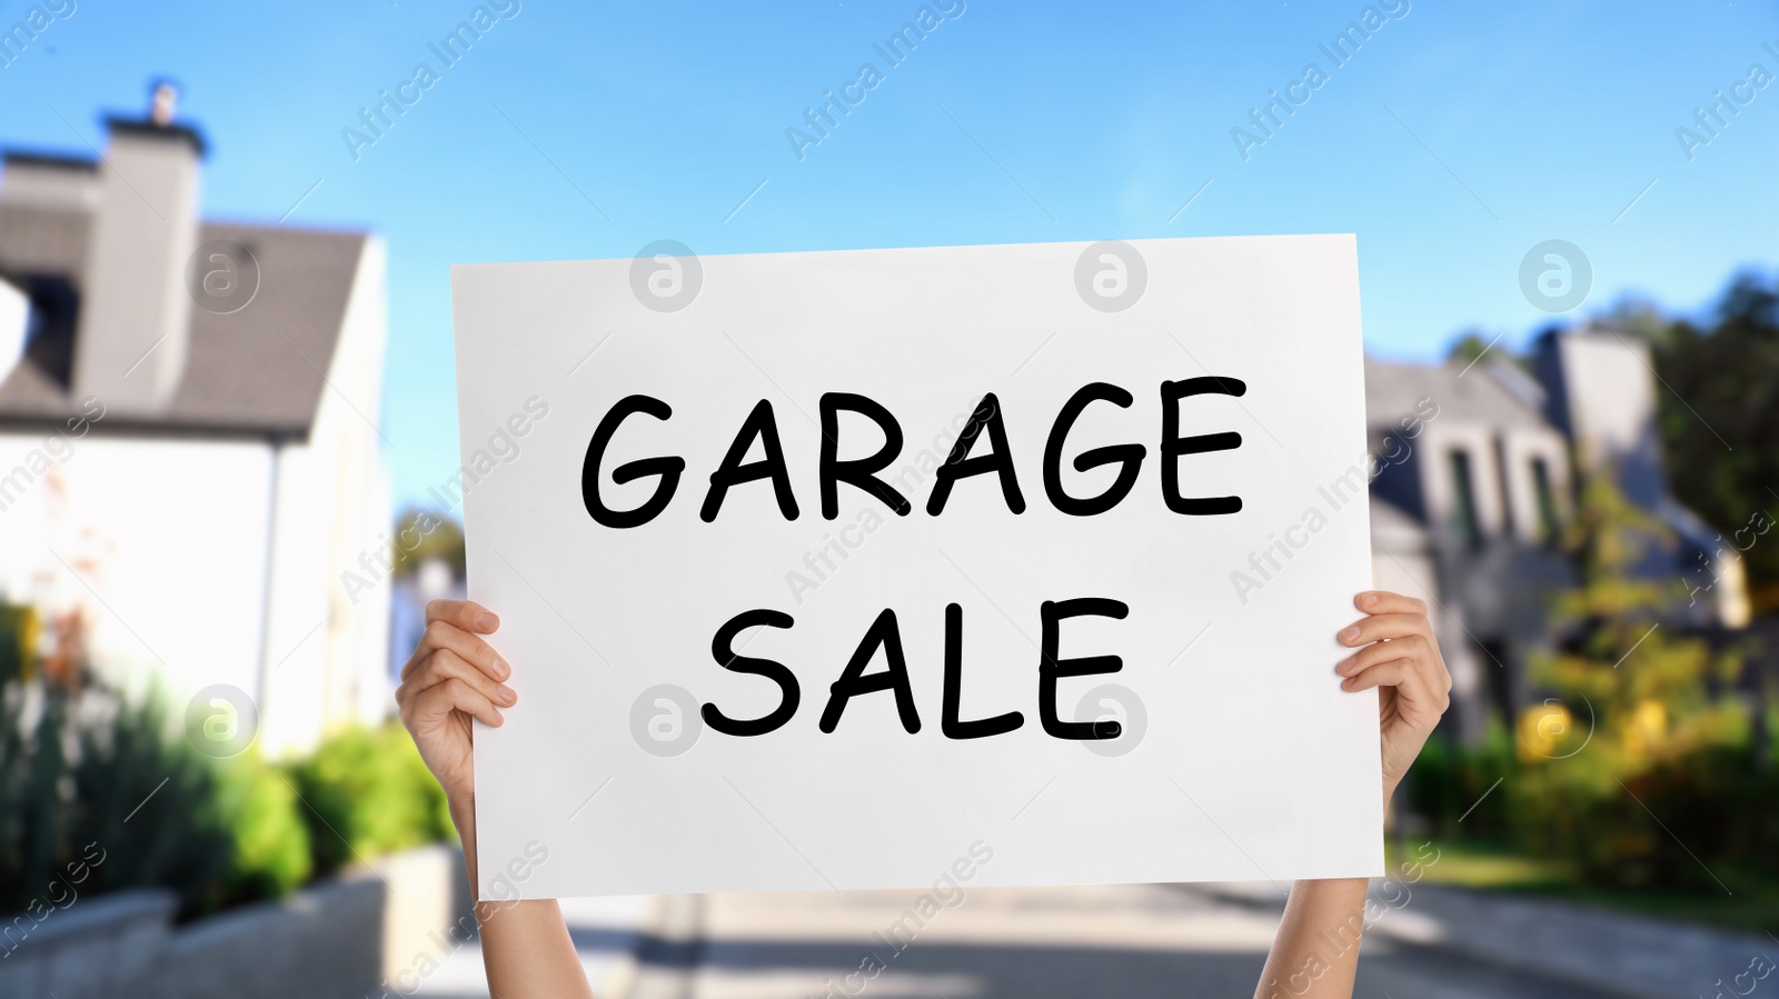
[[[203,139],[174,123],[178,91],[158,84],[146,119],[112,117],[100,206],[87,249],[75,395],[107,407],[165,409],[185,373],[192,299],[185,261],[197,247]]]

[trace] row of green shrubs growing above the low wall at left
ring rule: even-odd
[[[85,864],[78,894],[167,887],[192,917],[452,835],[445,793],[398,725],[276,766],[254,752],[217,761],[167,732],[155,697],[0,684],[0,914],[66,899],[52,882],[69,864]]]

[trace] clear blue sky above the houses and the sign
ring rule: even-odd
[[[98,142],[169,75],[212,140],[208,217],[388,242],[398,503],[457,464],[452,263],[1352,231],[1368,348],[1437,357],[1551,318],[1519,288],[1542,240],[1590,260],[1580,313],[1701,309],[1779,256],[1779,85],[1743,84],[1779,73],[1768,4],[1379,4],[1336,68],[1318,43],[1366,4],[955,0],[888,68],[873,43],[916,2],[507,0],[455,66],[429,43],[466,0],[57,2],[0,69],[0,142],[82,151],[60,116]],[[420,62],[438,80],[354,162],[342,130]],[[882,82],[799,162],[786,130],[865,62]],[[1249,108],[1309,62],[1325,82],[1244,160],[1231,130],[1260,135]],[[1704,137],[1694,108],[1736,84],[1752,100],[1688,160],[1676,128]]]

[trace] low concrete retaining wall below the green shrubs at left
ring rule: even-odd
[[[390,995],[413,992],[400,983],[416,974],[416,955],[443,955],[466,935],[463,882],[463,855],[429,846],[180,928],[165,891],[82,898],[0,946],[0,995],[343,999],[379,997],[384,983],[395,983]]]

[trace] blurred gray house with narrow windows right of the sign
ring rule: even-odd
[[[1647,553],[1644,578],[1695,585],[1667,622],[1692,631],[1749,622],[1742,560],[1722,531],[1669,489],[1649,348],[1605,327],[1550,329],[1530,363],[1477,357],[1445,364],[1366,359],[1372,571],[1377,585],[1434,608],[1452,670],[1446,725],[1482,738],[1535,700],[1528,661],[1550,651],[1553,599],[1576,585],[1560,549],[1585,475],[1672,531]],[[1692,587],[1688,587],[1692,588]]]

